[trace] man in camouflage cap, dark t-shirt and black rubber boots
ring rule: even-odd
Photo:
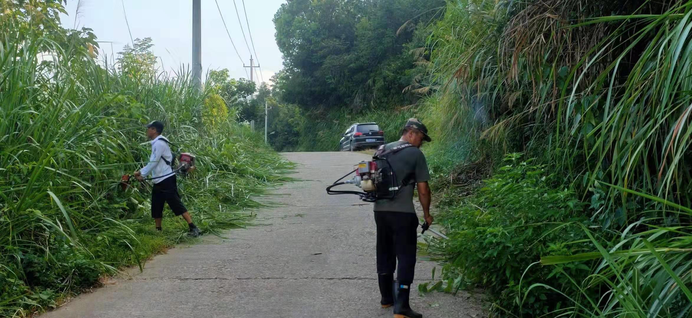
[[[423,317],[411,309],[408,299],[416,265],[418,216],[413,205],[415,187],[418,187],[424,219],[426,223],[432,223],[428,187],[430,173],[426,157],[419,149],[424,141],[430,142],[426,125],[410,118],[401,129],[401,139],[378,150],[392,165],[399,188],[394,198],[376,200],[373,209],[377,227],[380,303],[383,308],[393,305],[394,317],[397,318]],[[397,281],[394,281],[394,270],[397,270]]]

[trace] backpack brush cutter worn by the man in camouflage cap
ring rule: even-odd
[[[390,153],[406,149],[408,147],[414,147],[412,144],[401,144],[394,147],[388,151],[385,151],[384,146],[379,147],[375,154],[372,156],[372,160],[365,160],[358,162],[355,169],[345,176],[336,180],[332,185],[327,187],[327,194],[355,194],[361,200],[365,202],[375,202],[380,199],[391,199],[399,194],[399,190],[409,184],[409,178],[405,178],[402,181],[402,185],[399,185],[397,181],[397,175],[394,174],[394,169],[390,164],[389,160],[385,157]],[[347,176],[356,173],[355,176],[349,180],[341,181]],[[361,188],[363,191],[343,191],[343,190],[333,190],[332,188],[339,185],[356,185],[356,187]],[[419,225],[421,225],[419,223]],[[447,239],[448,237],[440,232],[430,229],[430,224],[424,222],[421,225],[423,231],[421,234],[430,230],[433,234]]]

